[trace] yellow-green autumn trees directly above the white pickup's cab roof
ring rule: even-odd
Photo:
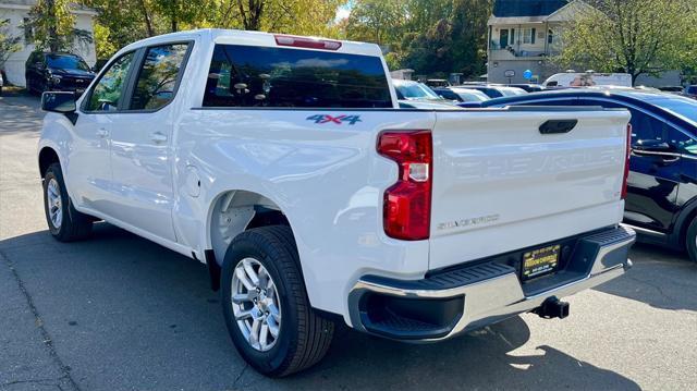
[[[97,11],[100,58],[135,40],[191,28],[241,28],[335,36],[343,0],[82,0]]]

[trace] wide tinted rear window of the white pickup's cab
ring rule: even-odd
[[[216,45],[204,107],[392,108],[379,57]]]

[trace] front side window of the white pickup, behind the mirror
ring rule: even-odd
[[[133,57],[134,52],[130,52],[111,63],[93,88],[87,101],[87,111],[119,110],[119,102],[123,97]]]

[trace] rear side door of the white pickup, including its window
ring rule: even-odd
[[[120,208],[113,217],[150,234],[176,241],[172,225],[172,133],[170,105],[188,44],[140,50],[132,94],[111,131],[111,166]]]

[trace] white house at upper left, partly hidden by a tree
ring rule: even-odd
[[[36,0],[0,0],[0,20],[10,21],[8,33],[12,36],[22,37],[22,50],[10,56],[4,64],[7,82],[19,86],[26,85],[24,81],[24,64],[29,58],[29,53],[35,49],[34,44],[32,44],[32,30],[24,27],[29,10],[35,4]],[[81,5],[73,5],[72,13],[75,15],[75,27],[93,34],[93,20],[97,13]],[[97,62],[94,42],[76,42],[72,51],[85,59],[90,66],[94,66]]]

